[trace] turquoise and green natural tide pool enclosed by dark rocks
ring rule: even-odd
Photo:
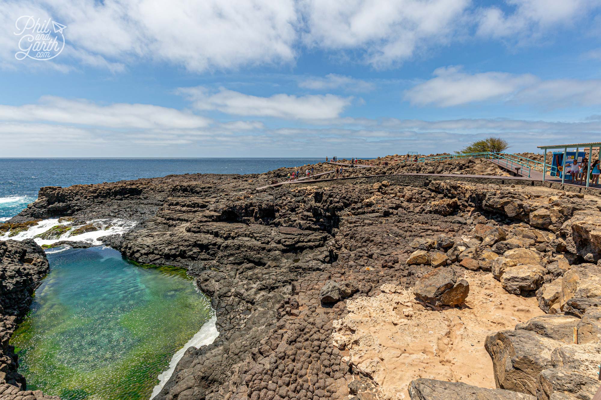
[[[181,271],[106,247],[48,255],[50,273],[13,335],[29,390],[63,400],[147,400],[157,376],[212,316]]]

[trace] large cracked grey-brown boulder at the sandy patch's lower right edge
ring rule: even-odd
[[[496,386],[535,396],[538,374],[552,366],[551,353],[562,344],[523,329],[487,336],[484,348],[492,359]]]

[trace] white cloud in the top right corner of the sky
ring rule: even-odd
[[[554,28],[573,26],[600,5],[598,0],[505,0],[505,3],[514,7],[513,13],[504,13],[498,7],[479,11],[478,35],[515,41],[541,38]]]

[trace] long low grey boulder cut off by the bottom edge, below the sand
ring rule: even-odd
[[[535,400],[531,395],[503,389],[484,389],[460,382],[419,378],[409,385],[411,400]]]

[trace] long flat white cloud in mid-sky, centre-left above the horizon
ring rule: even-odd
[[[191,100],[198,110],[216,110],[231,115],[289,120],[336,118],[353,99],[333,94],[305,96],[274,94],[270,97],[258,97],[225,88],[220,88],[218,92],[211,92],[202,86],[179,88],[177,92]]]

